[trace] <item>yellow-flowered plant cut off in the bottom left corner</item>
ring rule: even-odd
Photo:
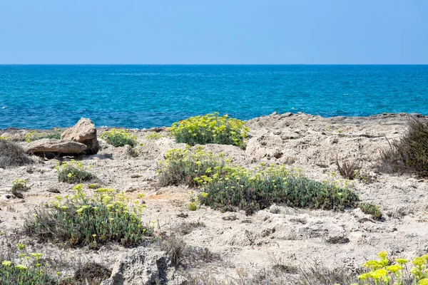
[[[69,279],[60,281],[61,273],[56,272],[54,268],[46,264],[46,262],[42,262],[43,254],[27,254],[24,244],[17,244],[17,247],[19,249],[19,264],[9,260],[1,261],[0,284],[71,284]]]

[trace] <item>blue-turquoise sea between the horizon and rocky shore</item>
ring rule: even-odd
[[[212,113],[428,115],[428,66],[0,66],[0,128],[151,128]]]

